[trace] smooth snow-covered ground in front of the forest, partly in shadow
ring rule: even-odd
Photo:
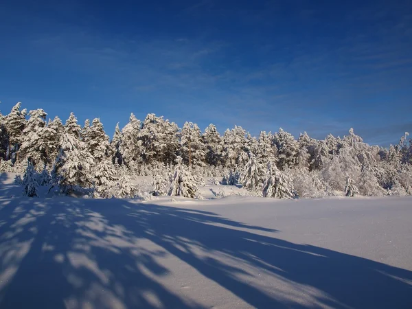
[[[22,198],[10,179],[2,309],[412,308],[411,197]]]

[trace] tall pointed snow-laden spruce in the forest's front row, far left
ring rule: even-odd
[[[65,194],[76,191],[76,188],[90,188],[92,165],[93,157],[80,141],[80,126],[71,113],[65,124],[65,133],[60,138],[60,152],[52,172],[53,184]]]

